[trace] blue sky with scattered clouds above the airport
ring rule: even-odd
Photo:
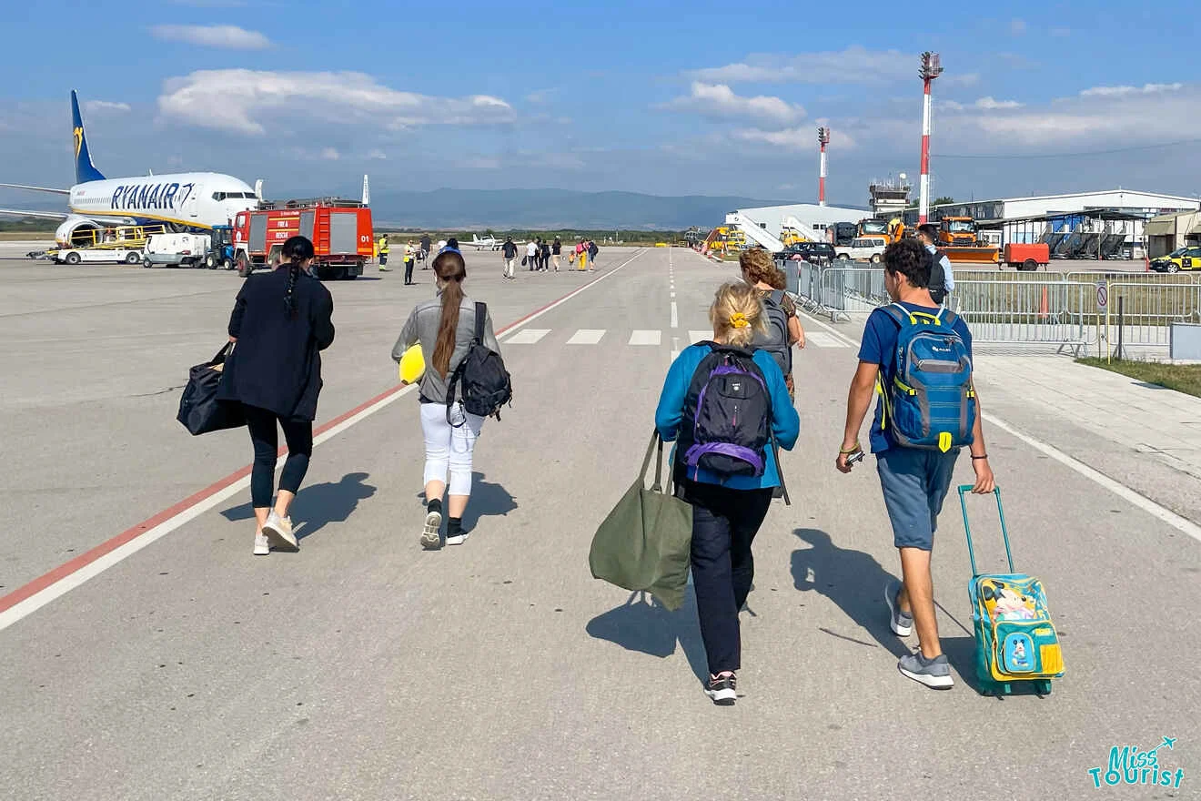
[[[72,179],[67,94],[107,174],[214,169],[268,193],[566,187],[813,199],[1201,191],[1193,5],[169,0],[6,10],[0,180]],[[83,20],[86,20],[84,23]],[[72,37],[73,31],[85,35]],[[48,55],[48,41],[59,41]],[[61,46],[64,44],[65,46]],[[1142,148],[1142,149],[1140,149]],[[1123,153],[1087,155],[1123,149]],[[1074,157],[1046,157],[1075,154]],[[942,156],[942,157],[940,157]],[[973,156],[960,159],[951,156]],[[1005,156],[996,159],[994,156]],[[19,203],[11,195],[6,204]]]

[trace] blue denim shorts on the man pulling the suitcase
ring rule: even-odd
[[[938,514],[951,488],[960,449],[946,453],[892,447],[878,453],[876,470],[897,548],[934,549]]]

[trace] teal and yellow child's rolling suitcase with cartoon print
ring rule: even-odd
[[[1042,582],[1014,569],[999,488],[993,490],[993,495],[1000,514],[1009,573],[980,573],[976,569],[966,501],[966,494],[970,491],[970,484],[960,488],[960,506],[963,509],[963,531],[968,537],[968,557],[972,560],[968,597],[972,600],[976,679],[981,693],[1008,695],[1012,685],[1033,682],[1039,695],[1047,695],[1051,693],[1051,680],[1063,676],[1063,651]]]

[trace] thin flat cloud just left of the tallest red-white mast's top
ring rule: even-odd
[[[746,61],[687,73],[709,83],[865,84],[910,77],[918,56],[900,50],[848,47],[841,52],[800,55],[754,54]]]

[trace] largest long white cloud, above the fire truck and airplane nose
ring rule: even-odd
[[[426,125],[509,122],[513,108],[488,95],[431,97],[384,86],[360,72],[202,70],[163,84],[163,119],[253,136],[286,118],[349,121],[404,131]]]

